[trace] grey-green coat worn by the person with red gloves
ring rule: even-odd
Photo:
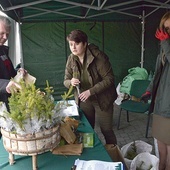
[[[165,57],[164,62],[162,56]],[[152,92],[151,111],[170,117],[170,39],[161,41],[155,74],[147,90]]]

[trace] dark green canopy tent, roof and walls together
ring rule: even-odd
[[[21,23],[25,68],[37,78],[40,88],[48,80],[55,88],[56,98],[66,90],[64,68],[70,53],[66,36],[71,30],[85,31],[89,42],[109,56],[117,85],[129,68],[142,64],[148,72],[154,71],[159,52],[155,31],[170,8],[166,0],[1,0],[0,5],[0,9]],[[144,62],[140,63],[142,47]]]

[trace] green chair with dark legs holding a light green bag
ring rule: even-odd
[[[120,105],[120,112],[118,115],[117,121],[117,129],[120,126],[120,117],[122,110],[125,110],[127,113],[127,122],[129,122],[129,112],[134,113],[147,113],[147,125],[146,125],[146,133],[145,137],[148,137],[148,129],[149,129],[149,122],[150,122],[150,113],[149,113],[149,103],[144,103],[140,101],[142,94],[145,93],[150,81],[149,80],[134,80],[131,84],[130,89],[130,99],[122,101]]]

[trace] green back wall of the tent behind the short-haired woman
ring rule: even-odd
[[[129,68],[140,66],[140,21],[24,23],[21,25],[24,67],[37,78],[38,87],[44,88],[48,80],[55,89],[56,99],[67,90],[63,86],[65,64],[70,54],[66,36],[74,29],[85,31],[89,43],[96,44],[109,56],[116,85]],[[144,63],[148,71],[154,69],[155,57]]]

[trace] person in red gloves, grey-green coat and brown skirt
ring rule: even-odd
[[[152,136],[157,139],[159,170],[170,169],[170,12],[163,15],[157,29],[160,41],[155,74],[142,100],[151,97],[150,112],[153,112]]]

